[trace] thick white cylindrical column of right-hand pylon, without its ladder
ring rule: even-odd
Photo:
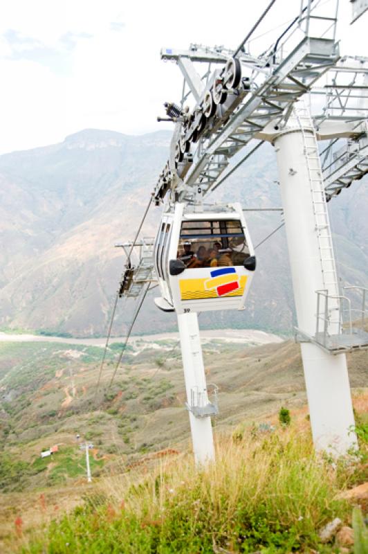
[[[304,129],[305,132],[311,129]],[[277,153],[297,325],[313,336],[316,291],[326,289],[326,279],[311,195],[313,185],[303,132],[297,120],[289,120],[288,127],[279,132],[273,144]],[[356,435],[351,432],[355,424],[346,356],[331,355],[313,343],[302,343],[301,348],[315,447],[333,455],[346,454],[357,445]]]

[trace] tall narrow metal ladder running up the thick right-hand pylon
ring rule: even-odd
[[[315,231],[318,240],[318,249],[320,251],[320,262],[322,269],[323,288],[328,295],[337,298],[339,296],[338,276],[335,266],[335,256],[333,253],[333,242],[329,223],[329,213],[326,205],[326,193],[324,192],[324,183],[322,179],[322,168],[320,156],[318,154],[317,137],[309,109],[297,107],[295,109],[297,122],[302,132],[304,154],[309,174],[309,184],[311,190],[311,199],[313,213],[315,216]],[[324,307],[321,306],[324,310]],[[333,314],[333,312],[335,312]],[[319,314],[317,314],[317,317]],[[329,305],[329,321],[333,325],[331,332],[338,332],[340,328],[340,303],[338,300]]]

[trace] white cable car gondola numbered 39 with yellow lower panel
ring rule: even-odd
[[[256,260],[240,204],[167,206],[154,264],[160,310],[243,310]]]

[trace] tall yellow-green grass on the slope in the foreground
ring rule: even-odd
[[[320,543],[318,529],[335,517],[350,521],[351,507],[338,492],[360,466],[360,458],[337,468],[314,454],[309,433],[293,425],[266,435],[244,431],[240,440],[224,436],[217,462],[203,470],[187,455],[150,472],[100,479],[83,506],[42,535],[23,537],[21,551],[333,552],[332,544]]]

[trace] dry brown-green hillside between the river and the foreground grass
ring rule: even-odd
[[[110,386],[122,346],[112,344],[97,390],[102,348],[1,343],[0,488],[40,488],[84,476],[83,440],[93,444],[95,476],[134,465],[159,449],[186,452],[190,429],[176,344],[176,339],[135,341]],[[306,415],[299,345],[208,338],[203,352],[208,383],[219,387],[217,434],[240,423],[269,424],[280,406],[293,417],[301,410]],[[360,413],[368,400],[366,353],[349,355],[348,365]],[[53,445],[57,454],[40,458]]]

